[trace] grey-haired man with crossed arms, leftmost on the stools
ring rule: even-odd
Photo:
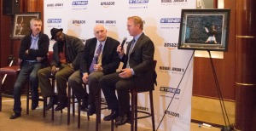
[[[32,19],[30,21],[30,28],[32,32],[23,37],[20,43],[19,58],[22,60],[20,65],[20,74],[17,77],[14,88],[14,114],[9,117],[15,119],[20,117],[21,102],[20,92],[21,88],[26,82],[30,82],[32,94],[32,110],[38,107],[38,70],[45,64],[45,58],[49,49],[49,37],[41,32],[42,21],[39,19]]]

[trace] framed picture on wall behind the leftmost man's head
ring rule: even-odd
[[[30,33],[30,20],[40,18],[39,12],[15,14],[12,38],[22,38]]]

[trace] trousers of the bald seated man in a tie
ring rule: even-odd
[[[93,71],[88,76],[88,86],[89,86],[89,96],[88,96],[88,104],[94,104],[96,102],[96,95],[98,95],[100,89],[99,80],[103,77],[104,73],[102,71]],[[71,77],[68,79],[68,83],[73,88],[73,94],[77,97],[77,99],[81,100],[86,95],[84,87],[82,85],[83,80],[79,71],[75,71]]]

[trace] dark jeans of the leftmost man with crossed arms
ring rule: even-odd
[[[32,100],[38,100],[38,70],[42,68],[42,64],[38,62],[24,62],[20,69],[20,74],[17,77],[14,87],[14,111],[21,112],[20,94],[21,88],[26,82],[30,82]]]

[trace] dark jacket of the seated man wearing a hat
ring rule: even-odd
[[[79,69],[79,62],[84,50],[84,43],[78,38],[73,36],[68,36],[64,34],[65,46],[66,46],[66,59],[72,63],[75,70]],[[53,46],[53,60],[50,62],[50,65],[60,66],[60,50],[59,44],[56,42]],[[68,53],[67,53],[68,52]]]

